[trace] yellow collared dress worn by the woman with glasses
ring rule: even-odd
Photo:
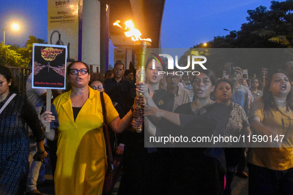
[[[89,98],[74,122],[71,90],[54,100],[60,123],[55,171],[56,195],[100,195],[106,171],[106,146],[100,92],[89,87]],[[106,118],[118,113],[104,94]]]

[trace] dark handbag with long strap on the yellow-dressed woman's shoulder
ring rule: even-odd
[[[113,158],[113,155],[112,155],[109,130],[108,130],[108,125],[106,120],[106,109],[105,109],[103,92],[100,92],[100,97],[101,97],[103,118],[104,118],[103,131],[104,131],[104,135],[106,135],[105,140],[107,141],[107,147],[108,147],[108,156],[107,156],[108,167],[107,167],[104,186],[103,186],[103,195],[110,195],[113,191],[115,184],[117,183],[118,178],[120,177],[122,173],[122,166],[121,166],[120,158]]]

